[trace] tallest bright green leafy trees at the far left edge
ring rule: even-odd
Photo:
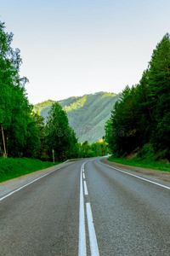
[[[0,122],[8,156],[35,157],[39,147],[36,122],[26,97],[25,77],[20,78],[20,49],[12,49],[13,34],[0,21]],[[2,138],[0,141],[3,150]]]

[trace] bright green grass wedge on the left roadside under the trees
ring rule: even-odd
[[[58,162],[55,165],[59,164]],[[0,158],[0,183],[14,177],[20,177],[31,172],[36,172],[54,166],[52,162],[42,162],[41,160],[28,158]]]

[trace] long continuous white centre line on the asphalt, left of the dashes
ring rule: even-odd
[[[80,209],[79,209],[79,247],[78,255],[86,255],[86,232],[85,232],[85,217],[84,217],[84,195],[82,188],[82,167],[80,172]]]

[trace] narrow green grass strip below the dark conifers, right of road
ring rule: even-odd
[[[108,158],[108,160],[110,160],[111,162],[116,162],[116,163],[119,163],[122,165],[127,165],[127,166],[138,166],[138,167],[142,167],[142,168],[149,168],[149,169],[154,169],[154,170],[159,170],[159,171],[170,172],[170,165],[163,161],[139,160],[139,158],[127,160],[122,157],[115,158],[112,156],[110,158]]]

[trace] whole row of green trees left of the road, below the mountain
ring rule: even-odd
[[[77,143],[65,110],[54,102],[47,123],[28,102],[26,77],[20,77],[20,49],[13,49],[13,34],[4,31],[0,21],[0,154],[12,158],[37,158],[63,161],[70,158],[99,156],[107,153],[104,141],[89,145]]]

